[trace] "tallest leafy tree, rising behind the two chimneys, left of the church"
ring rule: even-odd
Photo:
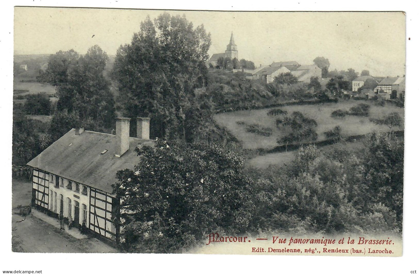
[[[194,28],[185,16],[163,13],[154,23],[147,17],[131,43],[116,52],[113,77],[124,115],[152,118],[151,136],[191,141],[186,132],[199,125],[188,121],[195,113],[194,91],[206,83],[210,44],[204,26]]]

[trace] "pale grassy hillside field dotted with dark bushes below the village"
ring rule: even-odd
[[[359,103],[368,103],[371,105],[370,115],[368,117],[347,115],[343,118],[332,118],[330,116],[332,111],[337,109],[349,111],[352,106],[356,106]],[[282,137],[285,133],[283,130],[278,129],[275,126],[277,117],[266,114],[271,109],[272,108],[220,113],[215,115],[215,121],[217,121],[220,126],[227,128],[238,140],[240,140],[243,144],[243,148],[245,149],[272,149],[278,145],[277,139]],[[318,123],[318,126],[316,127],[318,141],[326,140],[324,132],[333,129],[335,126],[341,127],[343,136],[351,136],[366,134],[372,132],[373,130],[389,130],[387,126],[377,125],[370,122],[370,118],[382,118],[393,111],[398,112],[402,117],[404,117],[403,108],[393,106],[392,104],[387,104],[386,106],[375,106],[371,101],[342,100],[339,103],[284,106],[281,107],[281,109],[287,110],[288,115],[292,114],[293,111],[300,111],[305,116],[315,119]],[[243,121],[246,124],[258,124],[263,128],[271,128],[272,134],[270,136],[262,136],[260,134],[248,132],[246,130],[246,125],[240,123],[237,124],[238,121]],[[395,128],[394,130],[398,129]]]

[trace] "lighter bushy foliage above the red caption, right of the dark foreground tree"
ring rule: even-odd
[[[357,151],[301,148],[287,168],[256,172],[254,225],[294,232],[400,232],[403,141],[373,133]]]

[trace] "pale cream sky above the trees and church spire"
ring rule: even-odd
[[[186,15],[211,33],[209,56],[224,52],[233,31],[239,59],[256,66],[279,61],[310,65],[329,59],[329,70],[369,70],[373,76],[405,74],[406,18],[402,12],[217,12],[168,11]],[[163,10],[16,7],[14,54],[84,54],[98,44],[115,55],[147,15]]]

